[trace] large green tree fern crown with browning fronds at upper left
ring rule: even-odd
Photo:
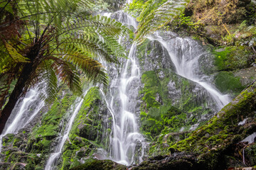
[[[88,11],[92,4],[90,0],[16,0],[11,6],[16,12],[5,13],[6,18],[14,17],[7,23],[0,21],[0,74],[21,78],[24,83],[17,84],[17,89],[23,89],[23,94],[46,79],[48,101],[55,99],[57,77],[74,94],[82,94],[78,69],[85,73],[87,81],[106,87],[107,73],[98,60],[117,62],[117,57],[124,57],[117,39],[130,32],[110,18],[78,10],[78,6],[86,6]],[[21,96],[18,91],[14,94],[16,98]],[[0,105],[3,100],[1,97]]]

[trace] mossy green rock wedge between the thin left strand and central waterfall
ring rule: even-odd
[[[63,163],[59,164],[58,169],[72,169],[80,165],[80,159],[90,157],[95,153],[96,148],[104,148],[102,146],[102,125],[105,120],[101,112],[103,108],[99,88],[93,87],[87,91],[70,130],[68,142],[65,143]],[[106,130],[106,132],[110,134],[111,130]],[[105,138],[103,142],[108,140],[107,137]]]

